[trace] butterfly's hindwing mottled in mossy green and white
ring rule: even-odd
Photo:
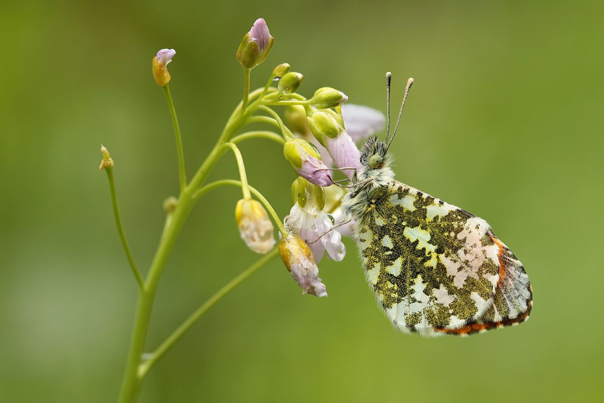
[[[423,335],[501,315],[500,247],[489,233],[483,219],[397,181],[374,190],[357,227],[379,304],[399,329]]]

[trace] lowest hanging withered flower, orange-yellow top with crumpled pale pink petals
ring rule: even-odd
[[[308,245],[294,234],[284,234],[279,241],[279,254],[285,267],[302,288],[302,294],[327,297],[325,285],[319,278],[319,268]]]

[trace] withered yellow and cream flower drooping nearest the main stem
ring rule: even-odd
[[[235,208],[239,233],[248,248],[256,253],[268,253],[275,245],[271,219],[257,200],[241,199]]]

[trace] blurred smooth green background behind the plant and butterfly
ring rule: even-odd
[[[384,73],[395,105],[414,77],[397,179],[486,218],[524,263],[534,309],[522,326],[469,338],[400,334],[347,240],[344,262],[320,263],[328,298],[301,295],[271,262],[158,363],[140,401],[601,398],[603,2],[40,1],[0,10],[0,401],[117,399],[137,288],[100,144],[146,270],[162,202],[178,193],[151,60],[177,51],[170,89],[191,178],[242,96],[235,53],[259,17],[275,44],[253,87],[288,62],[301,94],[332,86],[384,110]],[[280,147],[241,149],[251,184],[286,215],[295,175]],[[237,178],[230,153],[219,178]],[[222,188],[194,209],[147,350],[258,259],[234,222],[239,198]]]

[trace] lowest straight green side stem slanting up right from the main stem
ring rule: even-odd
[[[252,274],[257,272],[262,266],[266,265],[266,263],[270,262],[278,255],[278,249],[274,248],[271,252],[260,258],[253,265],[249,266],[248,269],[243,271],[239,276],[235,277],[225,286],[223,286],[216,294],[212,295],[208,298],[207,301],[204,302],[202,306],[200,306],[197,311],[195,311],[187,320],[185,320],[181,326],[176,329],[170,337],[165,339],[164,343],[152,353],[149,359],[144,363],[140,364],[138,368],[138,377],[144,378],[147,375],[147,372],[159,361],[165,353],[168,352],[174,346],[174,344],[180,340],[180,338],[195,324],[196,321],[201,318],[205,312],[207,312],[210,308],[212,308],[218,301],[220,301],[226,294],[233,291],[233,289],[240,285],[244,280],[248,279]]]

